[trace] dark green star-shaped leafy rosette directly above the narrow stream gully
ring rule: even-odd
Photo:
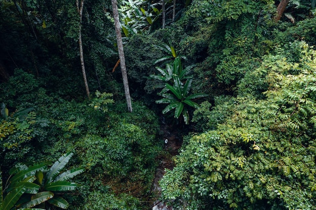
[[[189,95],[192,79],[188,79],[185,84],[181,83],[178,76],[174,76],[174,85],[166,84],[166,91],[163,91],[159,95],[164,97],[163,99],[156,100],[157,104],[169,104],[162,112],[167,112],[175,109],[175,118],[179,118],[182,114],[185,124],[189,124],[189,112],[187,106],[199,108],[199,105],[192,101],[192,99],[205,97],[207,94],[196,93]],[[170,91],[171,93],[168,93]]]

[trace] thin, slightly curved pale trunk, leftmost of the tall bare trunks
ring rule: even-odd
[[[83,60],[83,49],[82,49],[82,37],[81,37],[81,23],[82,23],[82,12],[83,12],[83,4],[84,0],[81,0],[81,5],[79,6],[79,0],[77,0],[77,10],[80,16],[80,24],[79,24],[79,52],[80,52],[80,62],[81,62],[81,70],[82,70],[82,75],[83,75],[83,81],[84,81],[84,86],[86,88],[86,93],[88,96],[88,99],[90,99],[90,91],[89,91],[89,86],[88,86],[88,81],[87,81],[87,76],[86,76],[86,70],[84,67],[84,60]]]

